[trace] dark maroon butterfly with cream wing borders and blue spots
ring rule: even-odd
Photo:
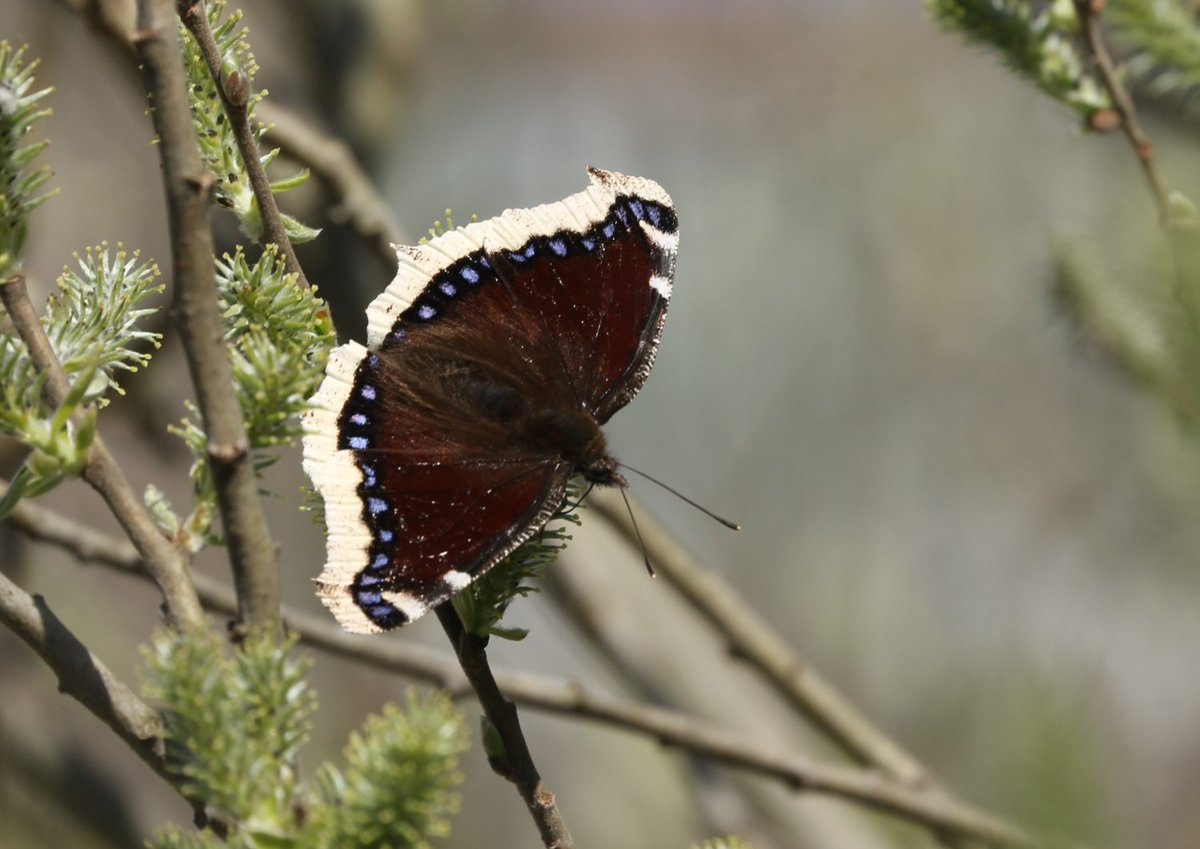
[[[410,622],[529,540],[572,475],[624,486],[600,424],[641,389],[678,223],[658,183],[588,169],[557,204],[397,247],[367,347],[305,414],[329,526],[318,595],[347,631]]]

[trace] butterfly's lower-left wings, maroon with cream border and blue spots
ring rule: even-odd
[[[568,465],[481,450],[494,434],[448,427],[404,402],[394,360],[349,343],[330,354],[325,374],[305,414],[304,468],[329,528],[317,594],[344,630],[373,633],[421,616],[562,505]]]

